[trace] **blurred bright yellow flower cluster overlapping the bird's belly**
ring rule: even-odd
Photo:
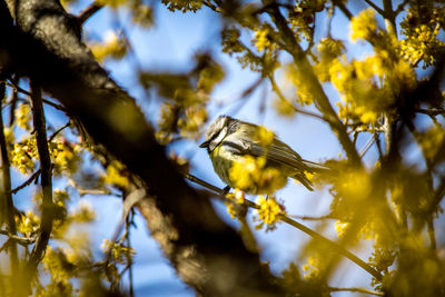
[[[229,169],[235,188],[255,194],[274,194],[287,184],[287,177],[277,168],[266,167],[266,158],[243,156]]]

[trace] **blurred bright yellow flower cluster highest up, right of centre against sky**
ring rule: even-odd
[[[368,8],[355,16],[350,20],[350,39],[370,40],[377,32],[377,21],[375,12]]]

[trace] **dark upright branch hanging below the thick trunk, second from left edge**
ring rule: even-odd
[[[43,258],[44,251],[52,230],[53,219],[53,202],[52,202],[52,166],[48,149],[47,128],[43,113],[43,105],[40,87],[31,80],[31,101],[32,101],[32,118],[36,130],[37,150],[40,159],[40,185],[42,190],[42,211],[40,222],[40,234],[36,241],[36,246],[28,263],[28,278],[30,281],[36,274],[37,266]]]

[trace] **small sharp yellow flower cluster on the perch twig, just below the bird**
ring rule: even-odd
[[[255,228],[261,229],[263,226],[266,225],[266,231],[274,230],[276,224],[279,222],[280,215],[285,214],[284,206],[278,204],[274,196],[267,198],[259,196],[256,202],[259,205],[259,209],[255,210],[257,215],[255,219],[258,220],[259,224],[256,225]]]

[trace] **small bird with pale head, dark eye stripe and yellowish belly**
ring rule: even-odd
[[[290,177],[301,182],[308,190],[313,190],[312,181],[306,174],[314,174],[320,170],[323,166],[304,160],[271,132],[269,132],[271,137],[267,141],[263,141],[258,137],[261,129],[263,131],[266,130],[255,123],[240,121],[228,116],[219,116],[207,128],[206,139],[199,147],[207,149],[216,174],[231,188],[239,188],[254,195],[269,194],[268,188],[255,185],[255,182],[248,182],[249,185],[244,188],[239,187],[239,182],[234,180],[233,175],[230,175],[234,166],[251,156],[265,159],[261,171],[275,168],[281,177],[285,176],[285,182],[280,187],[284,187],[287,177]],[[243,168],[243,165],[238,168]]]

